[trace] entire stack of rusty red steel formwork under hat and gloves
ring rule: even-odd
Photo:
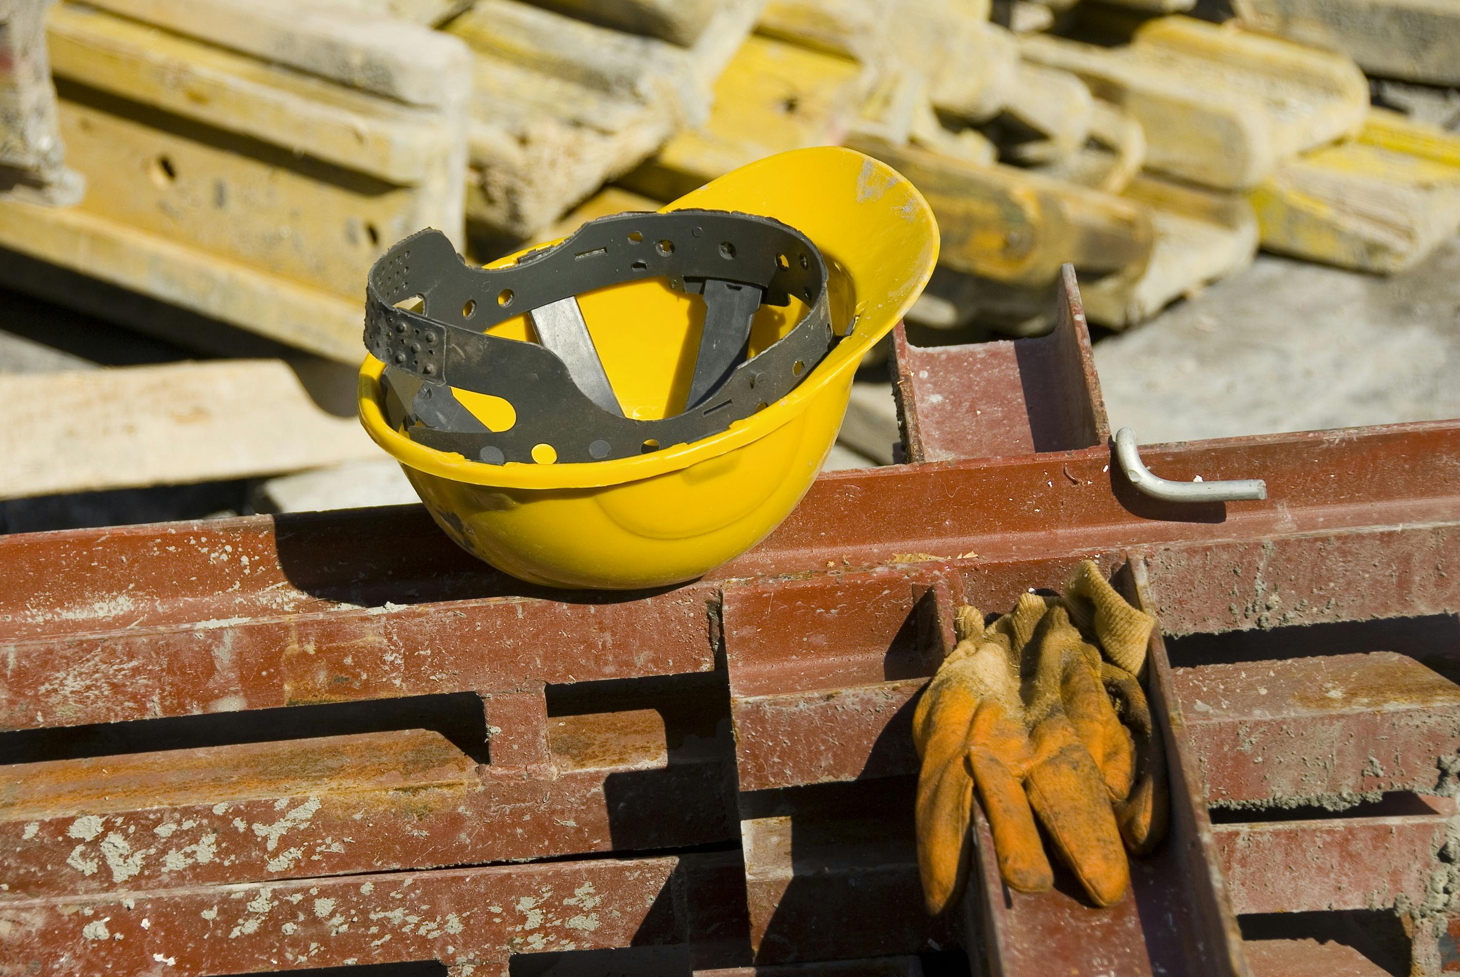
[[[264,729],[0,768],[0,974],[495,976],[569,946],[912,974],[962,946],[974,973],[1261,977],[1292,948],[1244,945],[1238,914],[1359,905],[1402,913],[1415,973],[1438,973],[1460,625],[1388,647],[1343,628],[1454,621],[1460,422],[1145,447],[1167,478],[1269,489],[1161,502],[1113,464],[1070,279],[1060,317],[978,348],[899,334],[915,463],[819,479],[761,546],[661,593],[527,587],[418,507],[0,537],[3,730],[123,742],[464,694],[489,736],[474,756],[415,721]],[[1086,556],[1165,631],[1171,837],[1096,911],[1004,891],[980,828],[968,897],[929,919],[918,689],[956,606]]]

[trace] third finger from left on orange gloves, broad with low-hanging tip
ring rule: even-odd
[[[1111,905],[1130,888],[1130,865],[1105,783],[1063,716],[1035,726],[1035,762],[1023,786],[1029,805],[1091,901]]]

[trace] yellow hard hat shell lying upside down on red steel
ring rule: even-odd
[[[400,461],[432,518],[463,549],[537,584],[660,587],[740,555],[769,535],[810,488],[837,440],[858,361],[902,317],[933,272],[933,213],[896,171],[841,147],[761,159],[661,213],[686,209],[772,218],[804,235],[825,260],[831,329],[841,339],[785,396],[717,434],[654,444],[656,450],[631,457],[571,461],[558,461],[549,444],[536,445],[529,461],[489,463],[413,440],[399,418],[393,422],[383,384],[385,364],[368,356],[359,377],[361,424]],[[488,269],[511,267],[518,257]],[[498,301],[510,301],[507,292]],[[577,298],[623,415],[654,421],[682,410],[704,304],[661,277]],[[796,301],[785,310],[761,307],[752,320],[749,356],[790,336],[800,318],[809,318],[809,311]],[[526,313],[485,332],[534,339]],[[486,429],[514,425],[517,412],[507,400],[454,384],[451,391]]]

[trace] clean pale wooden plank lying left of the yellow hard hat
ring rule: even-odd
[[[256,359],[0,377],[10,405],[0,498],[377,457],[353,412],[330,413],[311,396],[330,369],[342,368]]]

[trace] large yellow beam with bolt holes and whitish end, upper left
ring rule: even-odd
[[[60,131],[89,191],[0,202],[0,245],[355,362],[371,261],[423,225],[461,240],[464,47],[333,7],[107,6],[127,16],[50,18]]]

